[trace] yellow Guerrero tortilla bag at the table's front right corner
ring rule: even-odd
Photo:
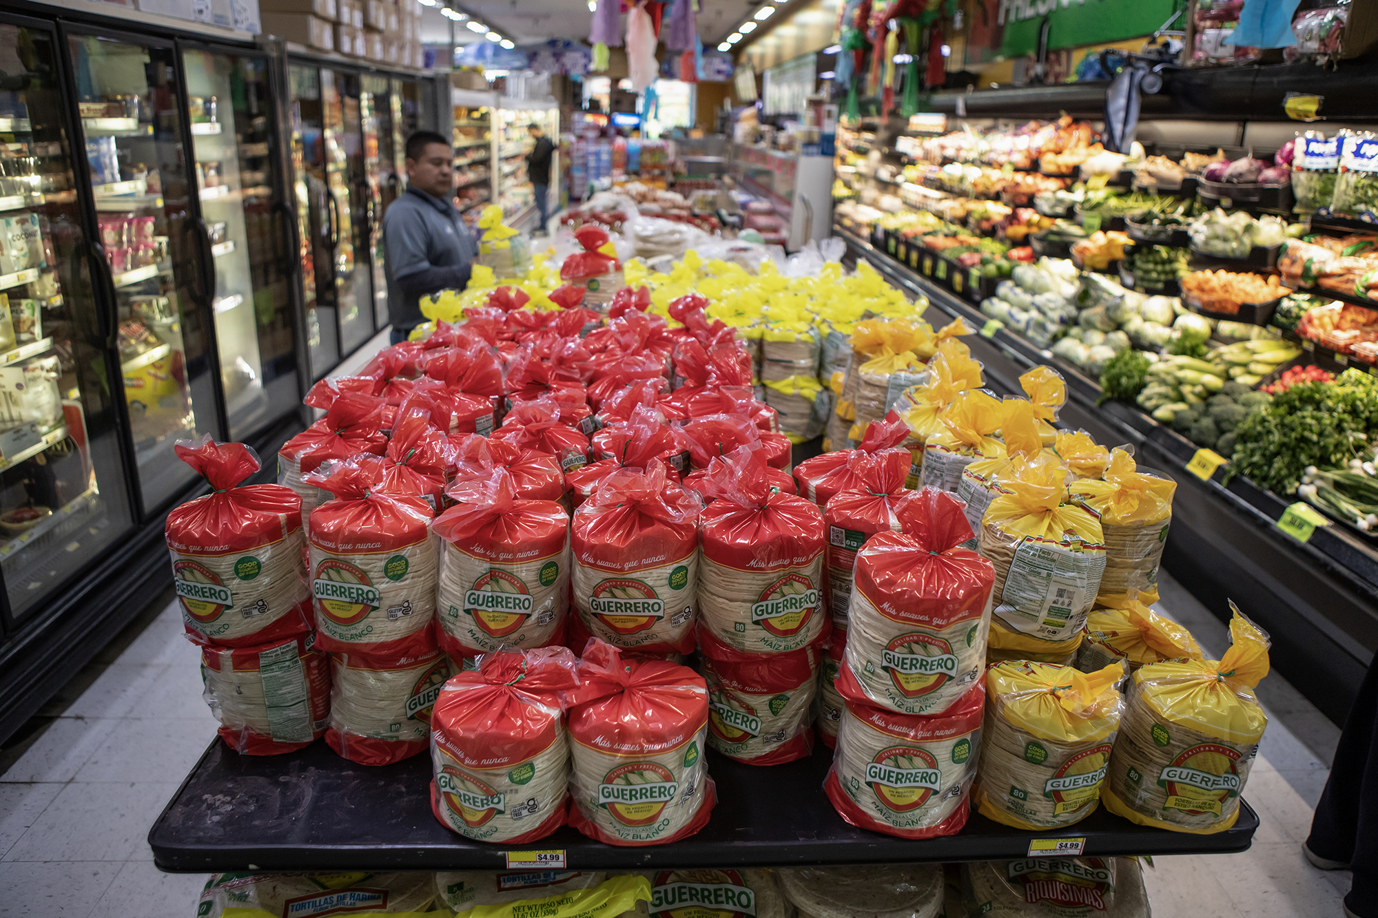
[[[1180,833],[1221,833],[1239,819],[1268,714],[1268,634],[1231,604],[1224,657],[1149,663],[1130,680],[1101,799],[1105,809]]]

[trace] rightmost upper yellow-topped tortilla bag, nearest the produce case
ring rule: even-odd
[[[1072,499],[1101,518],[1105,573],[1097,601],[1108,605],[1134,591],[1145,604],[1158,602],[1158,569],[1173,520],[1177,482],[1137,471],[1133,456],[1113,449],[1104,480],[1080,478],[1069,491]]]

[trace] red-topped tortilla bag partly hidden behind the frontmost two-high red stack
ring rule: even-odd
[[[871,425],[871,430],[882,423]],[[832,627],[843,631],[847,627],[847,609],[852,604],[852,575],[857,551],[876,532],[900,531],[894,504],[909,493],[904,489],[904,480],[909,473],[909,456],[903,449],[882,449],[874,455],[857,451],[847,466],[853,477],[852,484],[832,495],[823,513],[828,536],[823,594],[832,615]]]

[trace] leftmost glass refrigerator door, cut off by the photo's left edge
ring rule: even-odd
[[[11,622],[132,524],[59,45],[0,21],[0,569]],[[77,153],[76,156],[80,156]],[[109,316],[106,313],[106,316]]]

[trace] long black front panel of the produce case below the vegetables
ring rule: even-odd
[[[1107,445],[1129,444],[1140,463],[1174,478],[1164,568],[1221,620],[1233,600],[1286,648],[1275,653],[1273,667],[1331,720],[1344,721],[1378,649],[1378,540],[1338,521],[1317,528],[1305,543],[1286,535],[1276,522],[1295,498],[1233,476],[1229,465],[1203,481],[1188,470],[1199,447],[1182,434],[1131,405],[1097,405],[1100,385],[1072,364],[1003,327],[988,327],[974,305],[857,234],[834,232],[896,287],[927,296],[934,327],[948,321],[945,314],[981,329],[963,342],[983,363],[989,389],[1022,394],[1018,375],[1047,364],[1067,380],[1061,426],[1086,430]]]

